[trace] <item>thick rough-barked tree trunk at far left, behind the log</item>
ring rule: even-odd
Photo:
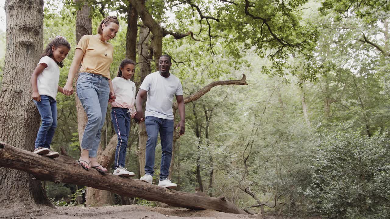
[[[43,0],[7,0],[4,9],[7,43],[0,95],[0,138],[32,151],[40,117],[31,100],[30,78],[43,52]],[[53,207],[41,182],[31,178],[25,172],[0,168],[3,208]]]

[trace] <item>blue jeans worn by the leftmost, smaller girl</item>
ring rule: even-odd
[[[34,101],[34,103],[42,119],[42,124],[39,127],[37,139],[35,140],[35,149],[39,147],[50,149],[50,144],[57,128],[57,102],[53,97],[41,95],[41,102]]]

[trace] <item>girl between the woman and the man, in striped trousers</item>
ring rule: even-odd
[[[133,177],[134,173],[127,171],[125,166],[127,142],[130,132],[130,120],[135,111],[135,83],[131,81],[135,71],[135,62],[124,59],[119,66],[118,75],[112,80],[112,86],[116,95],[115,102],[111,106],[111,120],[118,136],[117,149],[115,151],[114,175]]]

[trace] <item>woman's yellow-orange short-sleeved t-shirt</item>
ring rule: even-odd
[[[81,49],[84,53],[80,72],[101,74],[111,79],[110,65],[114,60],[111,43],[101,41],[96,35],[83,35],[76,49]]]

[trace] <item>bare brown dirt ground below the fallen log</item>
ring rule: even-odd
[[[50,210],[1,210],[0,219],[249,219],[247,215],[215,210],[189,210],[140,205],[108,207],[57,207]]]

